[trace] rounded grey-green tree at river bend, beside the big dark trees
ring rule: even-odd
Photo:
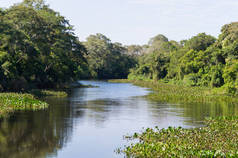
[[[92,78],[126,78],[129,69],[135,65],[134,57],[126,54],[125,47],[112,43],[102,34],[89,36],[84,45]]]

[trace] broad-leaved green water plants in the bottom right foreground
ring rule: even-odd
[[[238,117],[209,119],[196,129],[148,128],[126,139],[137,140],[117,150],[126,157],[238,157]]]

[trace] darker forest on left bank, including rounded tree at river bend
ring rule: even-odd
[[[57,88],[78,79],[126,78],[135,60],[101,34],[82,43],[43,0],[0,9],[0,91]]]

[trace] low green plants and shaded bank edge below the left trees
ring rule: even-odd
[[[38,98],[67,97],[71,88],[92,88],[92,85],[82,85],[79,82],[67,84],[62,89],[32,89],[26,93],[0,93],[0,118],[14,111],[35,111],[48,108],[46,102]]]

